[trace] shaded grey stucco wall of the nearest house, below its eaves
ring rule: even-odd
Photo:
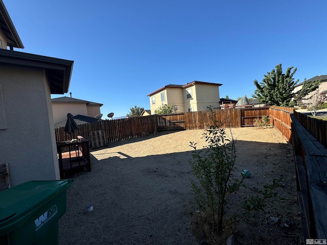
[[[9,163],[11,185],[59,179],[50,97],[42,68],[0,63],[6,128],[0,129],[0,163]]]

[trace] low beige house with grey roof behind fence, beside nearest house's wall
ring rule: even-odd
[[[73,116],[82,115],[88,117],[95,117],[100,114],[100,107],[103,104],[74,99],[72,97],[59,97],[51,100],[53,120],[57,124],[60,121],[67,120],[67,113]]]

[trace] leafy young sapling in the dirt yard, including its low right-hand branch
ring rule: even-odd
[[[233,213],[229,221],[224,220],[224,214],[228,209],[228,202],[233,194],[237,194],[243,184],[244,176],[235,175],[237,167],[235,140],[230,131],[230,136],[222,126],[223,123],[215,121],[215,113],[212,107],[208,107],[209,117],[213,121],[203,133],[207,143],[203,150],[196,151],[195,142],[190,146],[195,150],[190,160],[192,173],[197,178],[191,179],[192,189],[195,194],[195,201],[201,211],[206,212],[209,217],[213,232],[222,234],[224,227],[242,220],[251,212],[264,210],[268,201],[276,197],[275,189],[280,185],[281,179],[274,179],[270,185],[265,185],[263,190],[258,190],[254,195],[249,195],[243,202],[243,211]],[[267,123],[266,118],[264,119]]]

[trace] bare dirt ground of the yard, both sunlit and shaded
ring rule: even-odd
[[[202,148],[203,132],[161,132],[92,151],[92,171],[71,177],[67,211],[59,220],[59,244],[199,244],[192,234],[196,225],[191,220],[199,214],[189,160],[190,141]],[[233,229],[236,244],[302,243],[290,145],[272,128],[237,128],[232,134],[239,173],[251,172],[245,179],[249,188],[233,197],[232,210],[238,210],[250,190],[273,178],[284,179],[274,204]],[[93,211],[86,211],[88,204]],[[201,227],[195,229],[199,233]],[[214,240],[207,234],[208,242]]]

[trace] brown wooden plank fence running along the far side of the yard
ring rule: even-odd
[[[278,112],[274,112],[277,110]],[[263,115],[273,115],[273,124],[288,139],[290,133],[283,130],[283,127],[290,127],[290,120],[283,116],[281,109],[265,108],[246,108],[246,109],[230,109],[230,110],[214,110],[213,118],[216,121],[225,122],[224,127],[240,128],[253,126],[256,118]],[[283,116],[283,117],[282,117]],[[91,139],[91,132],[104,131],[106,142],[114,142],[126,140],[130,138],[142,137],[154,134],[160,130],[192,130],[205,129],[211,124],[211,114],[207,111],[183,112],[165,115],[150,115],[129,117],[115,120],[102,120],[92,122],[90,124],[80,125],[80,129],[74,133],[74,137],[80,135],[86,139]],[[279,127],[279,122],[281,126]],[[73,135],[66,134],[64,128],[56,129],[56,140],[71,140]]]

